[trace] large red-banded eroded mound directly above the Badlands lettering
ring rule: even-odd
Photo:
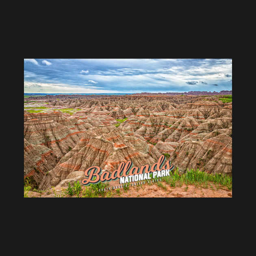
[[[93,132],[88,130],[72,152],[64,157],[67,161],[61,161],[44,177],[40,189],[56,186],[67,180],[72,172],[84,172],[91,166],[112,172],[121,162],[132,161],[134,166],[151,165],[161,156],[153,145],[137,137],[124,136],[117,128],[99,136],[93,136]]]

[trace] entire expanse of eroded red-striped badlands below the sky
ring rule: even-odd
[[[155,163],[232,175],[232,102],[198,95],[24,98],[24,178],[39,190],[81,182],[91,166]],[[119,184],[119,180],[116,181]]]

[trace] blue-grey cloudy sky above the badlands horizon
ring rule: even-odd
[[[25,93],[232,90],[232,59],[24,59]]]

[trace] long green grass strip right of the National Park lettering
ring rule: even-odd
[[[222,175],[222,174],[208,174],[204,171],[199,171],[199,169],[194,170],[191,169],[187,171],[185,174],[179,174],[178,167],[174,173],[170,172],[170,176],[163,177],[163,180],[167,182],[171,187],[175,187],[177,182],[180,186],[183,183],[194,184],[197,186],[198,184],[205,184],[208,187],[208,183],[212,182],[214,184],[219,184],[223,187],[227,187],[229,190],[232,189],[232,177]]]

